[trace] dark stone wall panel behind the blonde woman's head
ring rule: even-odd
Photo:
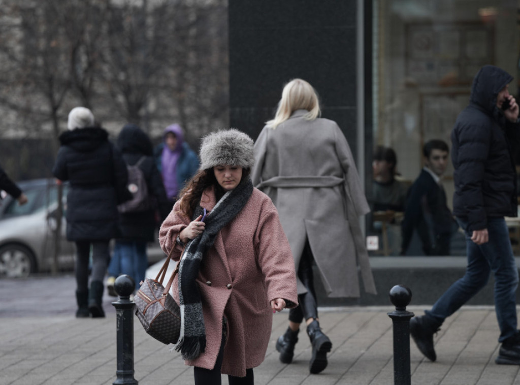
[[[256,139],[283,85],[302,78],[356,157],[355,1],[229,0],[229,78],[232,127]]]

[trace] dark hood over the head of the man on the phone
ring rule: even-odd
[[[475,75],[470,101],[493,113],[497,107],[497,95],[513,81],[513,76],[495,66],[484,66]]]

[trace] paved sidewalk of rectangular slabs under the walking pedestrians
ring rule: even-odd
[[[114,298],[106,296],[103,319],[74,317],[74,278],[0,280],[0,384],[112,384],[115,381]],[[426,306],[409,311],[422,314]],[[274,316],[265,362],[255,384],[393,384],[392,320],[388,307],[320,310],[321,325],[333,342],[329,366],[309,375],[310,344],[302,328],[294,361],[278,361],[276,338],[287,328],[287,312]],[[191,367],[179,354],[149,337],[134,318],[135,378],[141,385],[192,384]],[[438,361],[411,345],[412,384],[520,385],[518,366],[495,364],[499,330],[492,307],[464,307],[448,318],[435,338]],[[227,378],[223,377],[227,384]]]

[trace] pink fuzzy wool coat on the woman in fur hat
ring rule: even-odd
[[[200,206],[215,206],[213,188],[204,191]],[[159,241],[172,259],[180,259],[177,235],[190,223],[177,202],[163,222]],[[201,292],[206,329],[206,349],[196,360],[186,361],[206,369],[215,366],[222,339],[222,318],[227,318],[228,339],[222,373],[245,376],[245,369],[264,361],[272,327],[270,301],[283,298],[297,305],[296,273],[289,241],[269,197],[253,190],[242,211],[217,234],[202,260],[197,283]],[[177,277],[172,285],[179,302]]]

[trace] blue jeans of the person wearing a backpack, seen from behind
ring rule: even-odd
[[[128,274],[134,279],[138,290],[140,281],[145,279],[147,267],[146,241],[115,241],[114,253],[108,266],[110,276]]]

